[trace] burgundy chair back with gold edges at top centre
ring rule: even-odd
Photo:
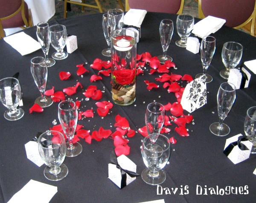
[[[125,0],[125,11],[130,8],[149,12],[181,14],[184,0]]]

